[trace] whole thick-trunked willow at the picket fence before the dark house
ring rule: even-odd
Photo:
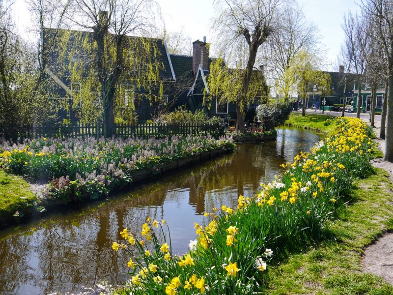
[[[71,26],[83,30],[62,31],[57,60],[70,77],[67,93],[81,120],[100,114],[105,136],[114,134],[115,118],[133,119],[135,101],[162,95],[159,40],[146,37],[154,33],[158,13],[153,0],[82,0],[70,5]]]

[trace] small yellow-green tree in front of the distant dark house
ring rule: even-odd
[[[317,89],[322,89],[322,96],[327,96],[330,91],[331,77],[318,69],[319,62],[316,56],[302,50],[290,67],[291,75],[296,78],[297,92],[303,100],[302,116],[306,116],[307,92],[313,88],[313,85],[316,85]]]

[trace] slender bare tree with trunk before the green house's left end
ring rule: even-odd
[[[360,118],[360,111],[362,109],[362,84],[365,73],[366,54],[365,47],[369,36],[363,29],[366,26],[366,20],[362,17],[353,15],[351,12],[344,17],[344,24],[342,29],[345,33],[345,51],[348,52],[347,58],[351,59],[352,72],[357,75],[357,86],[359,88],[359,95],[357,101],[356,116]],[[346,62],[349,62],[347,60]]]

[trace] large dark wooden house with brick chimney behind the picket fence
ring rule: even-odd
[[[46,29],[45,35],[53,34],[55,29]],[[92,38],[92,32],[88,31],[75,31],[72,30],[71,36],[82,33],[85,40]],[[130,37],[139,38],[139,37]],[[83,39],[83,38],[81,38]],[[206,116],[213,117],[218,116],[221,118],[236,119],[236,107],[234,103],[220,102],[219,97],[209,97],[209,89],[207,88],[207,80],[209,77],[210,63],[214,60],[209,57],[209,45],[206,43],[206,38],[203,41],[195,41],[193,43],[193,56],[183,55],[172,55],[169,54],[167,45],[162,39],[151,39],[155,43],[156,48],[159,50],[158,62],[163,67],[160,68],[159,76],[160,81],[163,84],[164,95],[161,99],[151,101],[145,97],[146,89],[138,88],[135,84],[127,82],[127,78],[123,78],[122,82],[119,82],[119,87],[122,89],[119,95],[116,97],[117,107],[123,111],[127,111],[128,108],[132,108],[138,116],[139,122],[145,122],[149,120],[159,112],[159,110],[165,109],[165,111],[173,111],[175,108],[180,106],[195,112],[196,110],[204,110]],[[45,42],[45,39],[42,40]],[[67,50],[71,50],[68,49]],[[83,54],[81,54],[83,56]],[[78,121],[78,113],[84,111],[82,103],[86,99],[82,100],[82,82],[71,81],[71,74],[65,69],[71,68],[69,64],[71,62],[78,62],[78,59],[65,60],[65,65],[62,68],[57,64],[59,58],[58,50],[54,50],[54,53],[49,57],[49,66],[46,69],[47,78],[51,80],[53,88],[51,89],[53,97],[61,100],[63,103],[63,109],[59,111],[59,120],[63,118],[69,118],[71,121]],[[140,69],[142,70],[142,69]],[[135,68],[138,71],[138,67]],[[159,89],[151,89],[152,93],[159,97]],[[206,99],[204,100],[204,94]],[[97,110],[100,106],[100,95],[99,93],[89,93],[91,96],[92,104],[97,106]],[[84,97],[85,98],[85,97]],[[78,100],[75,103],[75,100]],[[66,102],[66,103],[64,103]],[[77,105],[77,110],[72,108],[72,105]],[[252,121],[255,117],[255,108],[257,103],[252,104],[246,109],[245,121]],[[97,111],[99,114],[99,111]]]

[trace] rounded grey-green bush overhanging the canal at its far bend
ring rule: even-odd
[[[261,121],[261,127],[265,131],[283,125],[290,113],[291,108],[288,102],[262,104],[256,107],[256,118]]]

